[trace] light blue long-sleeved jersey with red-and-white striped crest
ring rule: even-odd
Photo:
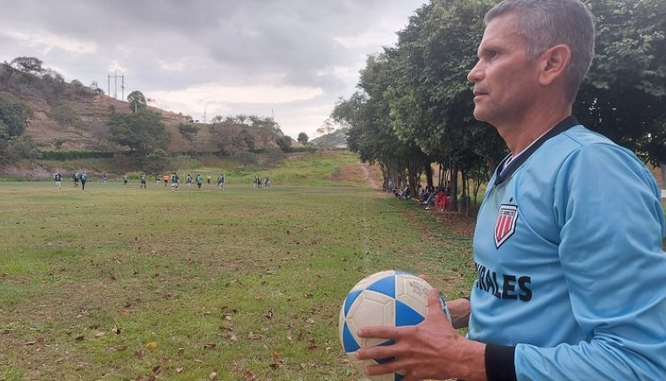
[[[519,380],[666,380],[654,177],[580,125],[557,132],[508,178],[490,180],[474,233],[468,336],[515,346]]]

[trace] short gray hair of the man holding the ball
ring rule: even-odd
[[[504,0],[486,13],[486,25],[497,16],[512,12],[516,30],[527,43],[532,57],[563,44],[571,49],[566,71],[566,96],[573,102],[588,73],[595,52],[592,14],[580,0]]]

